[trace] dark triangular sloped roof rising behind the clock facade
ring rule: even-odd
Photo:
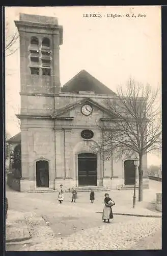
[[[86,70],[81,70],[61,88],[61,92],[76,93],[78,91],[95,92],[95,94],[116,95],[116,93],[104,86],[103,83],[89,74]]]

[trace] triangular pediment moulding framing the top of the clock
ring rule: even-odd
[[[57,117],[61,117],[62,115],[65,116],[65,114],[68,113],[77,108],[77,106],[81,106],[84,104],[91,104],[92,106],[95,106],[96,108],[98,108],[99,110],[101,110],[103,113],[106,113],[110,118],[114,117],[114,113],[112,113],[112,111],[108,111],[104,106],[100,105],[99,103],[95,102],[94,100],[90,99],[90,98],[84,98],[82,100],[78,100],[77,102],[73,103],[73,104],[69,104],[66,105],[63,108],[57,109],[53,112],[53,114],[51,115],[52,118],[57,118]]]

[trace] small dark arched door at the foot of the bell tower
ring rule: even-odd
[[[37,187],[49,187],[49,163],[45,160],[36,162]]]

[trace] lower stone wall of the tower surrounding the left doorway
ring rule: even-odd
[[[55,138],[53,129],[40,127],[44,122],[36,120],[37,127],[31,127],[21,133],[22,182],[31,182],[36,189],[36,162],[46,160],[49,163],[49,188],[54,188],[55,180]],[[32,125],[33,126],[33,125]],[[26,180],[26,182],[25,182]]]

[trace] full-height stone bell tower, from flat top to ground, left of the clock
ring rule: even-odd
[[[61,88],[59,49],[63,44],[63,27],[55,17],[29,14],[20,14],[15,25],[20,37],[21,110],[17,115],[21,120],[20,190],[27,191],[38,185],[36,162],[55,159],[54,122],[50,114],[54,110],[54,97]],[[49,186],[52,186],[54,160],[49,172]]]

